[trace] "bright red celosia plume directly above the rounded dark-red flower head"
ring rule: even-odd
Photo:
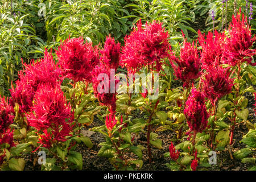
[[[225,48],[225,39],[226,36],[224,32],[219,33],[218,31],[214,31],[213,33],[208,32],[206,38],[205,34],[201,34],[198,31],[199,35],[199,44],[202,47],[201,49],[201,63],[203,69],[208,69],[211,67],[216,67],[217,65],[222,64],[221,58],[224,53]]]

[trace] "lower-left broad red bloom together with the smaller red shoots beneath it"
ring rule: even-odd
[[[55,141],[65,141],[73,128],[73,113],[60,85],[40,85],[34,102],[26,116],[30,126],[38,130],[40,143],[49,148]]]

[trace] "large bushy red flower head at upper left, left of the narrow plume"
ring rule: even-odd
[[[73,81],[92,82],[90,71],[99,63],[98,46],[85,44],[82,37],[67,39],[59,46],[56,55],[65,77]]]

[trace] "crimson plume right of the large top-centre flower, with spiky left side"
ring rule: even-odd
[[[174,68],[175,76],[183,81],[184,87],[188,88],[193,83],[193,80],[201,75],[201,61],[194,42],[191,44],[186,40],[184,38],[183,46],[180,48],[180,59],[174,60],[177,65],[172,62],[171,65]]]

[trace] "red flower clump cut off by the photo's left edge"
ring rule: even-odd
[[[14,110],[5,100],[5,97],[1,97],[0,101],[0,146],[7,144],[6,148],[10,149],[10,147],[15,146],[13,142],[13,131],[9,129],[9,126],[13,123]],[[3,163],[4,157],[5,154],[0,155],[0,166]]]

